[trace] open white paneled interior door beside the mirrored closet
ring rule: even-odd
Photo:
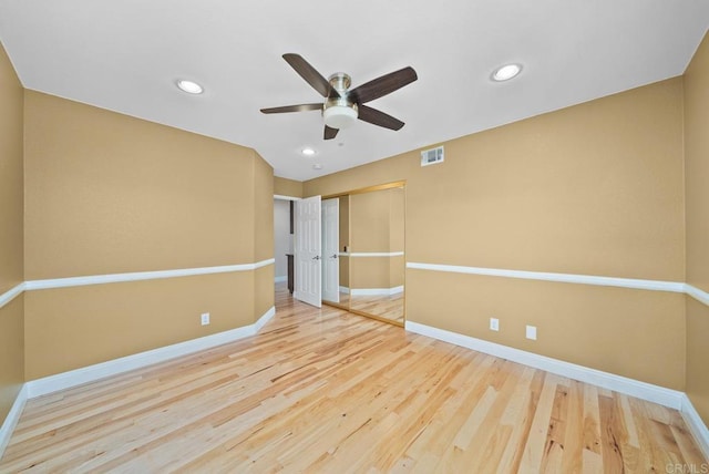
[[[320,196],[296,200],[294,219],[295,281],[292,296],[308,305],[322,306]]]

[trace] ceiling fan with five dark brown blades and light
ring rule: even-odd
[[[286,53],[284,59],[312,89],[325,97],[325,102],[261,109],[263,113],[321,111],[325,118],[325,140],[335,138],[340,128],[350,125],[356,118],[391,130],[400,130],[403,126],[403,122],[400,120],[367,106],[364,103],[390,94],[415,81],[418,79],[417,72],[411,66],[384,74],[350,90],[351,79],[343,72],[337,72],[326,80],[301,55]]]

